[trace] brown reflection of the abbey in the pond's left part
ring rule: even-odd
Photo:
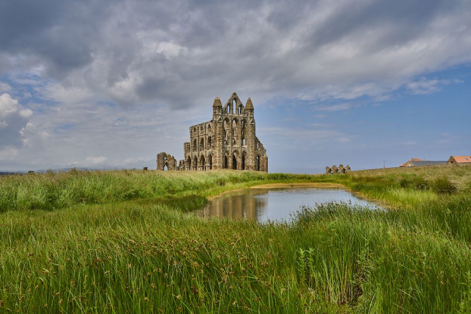
[[[233,219],[257,220],[266,211],[265,198],[254,197],[267,194],[268,189],[244,189],[227,195],[231,198],[218,197],[206,206],[200,215],[204,217],[232,217]]]

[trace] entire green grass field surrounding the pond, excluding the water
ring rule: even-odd
[[[292,223],[188,213],[224,191],[340,183]],[[471,166],[347,175],[0,177],[0,313],[470,313]]]

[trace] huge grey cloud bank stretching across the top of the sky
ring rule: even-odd
[[[0,73],[39,67],[77,98],[125,106],[201,107],[234,90],[381,101],[471,61],[467,1],[21,0],[0,12]]]

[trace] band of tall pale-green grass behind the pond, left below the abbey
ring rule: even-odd
[[[312,176],[249,171],[78,171],[0,177],[0,212],[61,209],[168,195],[214,195],[267,182],[306,181]]]

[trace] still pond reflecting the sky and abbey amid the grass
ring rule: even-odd
[[[234,219],[289,220],[301,206],[344,202],[378,209],[379,206],[362,200],[343,189],[312,187],[246,188],[212,199],[196,213],[203,217],[232,217]]]

